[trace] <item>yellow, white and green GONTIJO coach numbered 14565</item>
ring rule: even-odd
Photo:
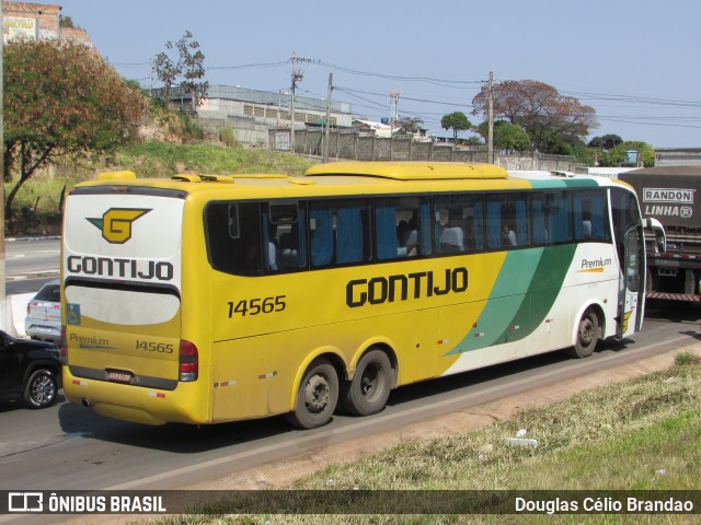
[[[148,424],[287,415],[642,325],[633,190],[495,165],[331,163],[286,175],[102,174],[66,200],[65,392]]]

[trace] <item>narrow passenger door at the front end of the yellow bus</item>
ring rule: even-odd
[[[627,337],[643,327],[645,310],[645,245],[641,229],[625,232],[619,282],[618,337]]]

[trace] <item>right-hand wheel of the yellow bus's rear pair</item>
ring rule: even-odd
[[[349,413],[369,416],[384,408],[391,388],[390,358],[382,350],[370,350],[358,361],[353,381],[344,383],[341,402]]]

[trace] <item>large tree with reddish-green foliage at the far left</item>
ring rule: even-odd
[[[4,180],[15,195],[60,156],[111,151],[129,141],[147,102],[102,58],[77,44],[13,40],[4,49]]]

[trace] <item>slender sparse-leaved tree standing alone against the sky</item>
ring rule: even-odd
[[[181,88],[189,93],[192,97],[193,110],[199,105],[199,101],[207,96],[209,82],[203,81],[205,77],[205,55],[199,50],[199,43],[193,40],[193,34],[185,31],[183,37],[175,44],[165,43],[169,51],[175,49],[177,56],[171,58],[168,52],[159,52],[154,60],[154,71],[158,79],[163,83],[162,96],[170,101],[173,85],[179,79]]]

